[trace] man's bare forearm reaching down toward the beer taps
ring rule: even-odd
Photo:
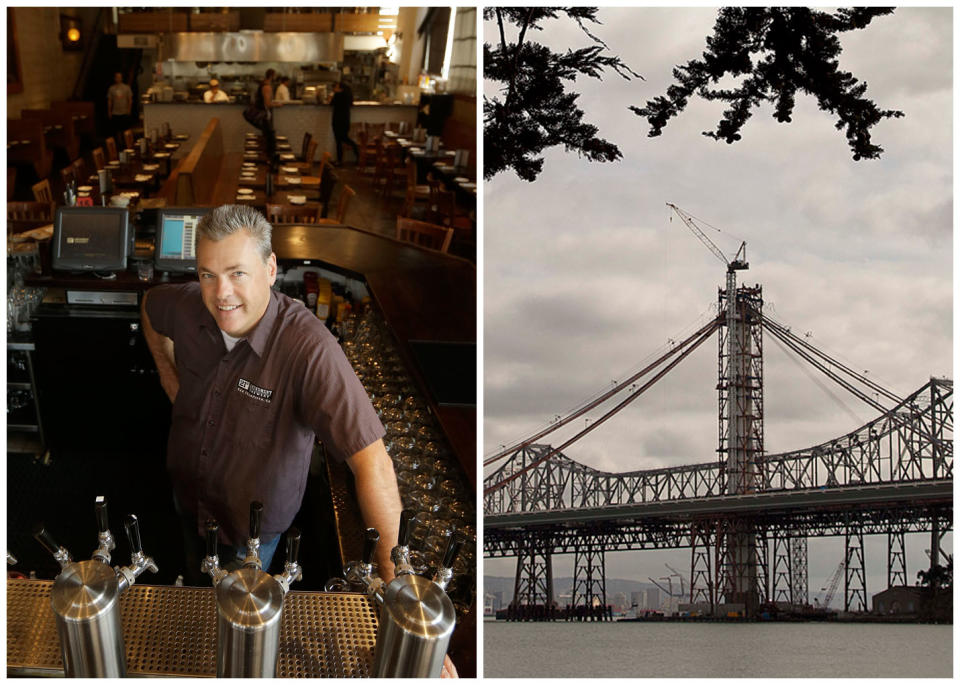
[[[397,544],[402,508],[393,462],[383,441],[377,440],[347,459],[347,465],[353,471],[363,522],[380,533],[376,561],[380,577],[389,583],[393,579],[390,550]]]

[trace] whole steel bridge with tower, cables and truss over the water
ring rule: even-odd
[[[953,512],[953,382],[931,378],[898,397],[763,313],[759,286],[728,264],[719,314],[646,368],[485,466],[484,555],[516,557],[511,616],[555,615],[552,557],[574,555],[574,607],[606,605],[605,553],[690,548],[690,603],[750,616],[766,602],[809,604],[807,542],[843,536],[844,608],[868,608],[863,538],[887,537],[888,587],[907,585],[904,535],[931,535],[931,567]],[[745,268],[740,266],[739,268]],[[808,449],[763,449],[764,332],[870,405],[876,418]],[[629,473],[579,464],[563,450],[639,397],[719,333],[717,460]],[[649,379],[645,380],[649,376]],[[642,384],[641,384],[642,383]],[[550,432],[613,398],[563,444]]]

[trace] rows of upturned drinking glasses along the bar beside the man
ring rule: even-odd
[[[414,569],[431,575],[453,531],[467,536],[447,589],[462,618],[476,591],[474,493],[379,313],[367,307],[345,322],[343,331],[347,359],[387,429],[384,443],[393,459],[403,507],[419,512],[410,523]]]

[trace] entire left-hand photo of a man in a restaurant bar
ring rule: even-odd
[[[475,677],[476,8],[6,26],[8,676]]]

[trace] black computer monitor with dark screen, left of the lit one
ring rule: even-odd
[[[130,249],[126,207],[59,207],[53,225],[53,268],[123,271]]]

